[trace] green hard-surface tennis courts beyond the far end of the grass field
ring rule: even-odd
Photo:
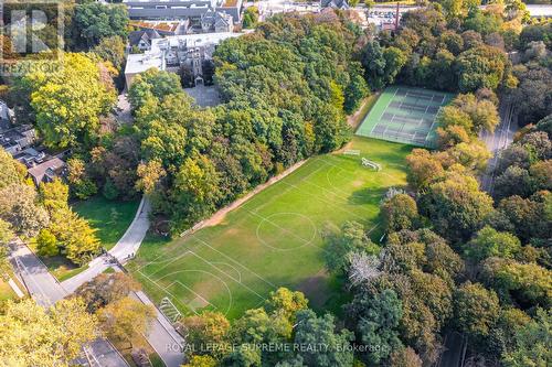
[[[388,87],[368,114],[357,134],[434,148],[435,118],[454,95],[406,86]]]

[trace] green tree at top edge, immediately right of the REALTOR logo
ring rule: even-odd
[[[128,12],[121,4],[104,6],[96,2],[77,3],[73,18],[76,44],[93,47],[113,36],[127,37]]]

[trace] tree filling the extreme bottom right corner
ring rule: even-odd
[[[537,317],[513,335],[514,346],[502,355],[507,367],[546,366],[552,358],[550,342],[552,312],[538,309]]]

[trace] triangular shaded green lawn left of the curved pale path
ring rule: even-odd
[[[73,204],[73,209],[97,229],[102,246],[112,249],[123,237],[136,215],[139,201],[112,202],[103,196]]]

